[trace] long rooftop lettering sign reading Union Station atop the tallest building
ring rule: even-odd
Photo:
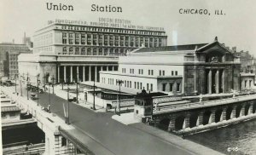
[[[131,24],[131,20],[113,19],[113,18],[102,18],[100,17],[98,21],[84,21],[84,20],[60,20],[56,19],[49,20],[48,24],[68,24],[68,25],[82,25],[82,26],[102,26],[102,27],[113,27],[113,28],[125,28],[125,29],[138,29],[138,30],[148,30],[148,31],[165,31],[163,27],[153,27],[153,26],[136,26]]]

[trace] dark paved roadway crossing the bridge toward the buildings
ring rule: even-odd
[[[23,90],[26,96],[26,89]],[[48,93],[39,94],[39,104],[48,106]],[[35,100],[36,101],[36,100]],[[64,119],[62,103],[67,103],[58,96],[50,95],[51,112]],[[35,103],[36,104],[36,103]],[[90,135],[110,152],[116,155],[170,155],[193,154],[183,148],[160,139],[154,135],[119,123],[111,118],[113,113],[92,112],[76,104],[70,104],[70,123],[77,129]],[[90,148],[89,148],[90,149]]]

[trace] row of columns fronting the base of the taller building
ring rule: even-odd
[[[71,82],[73,82],[73,77],[77,77],[77,79],[76,79],[76,81],[79,81],[79,76],[73,76],[73,67],[77,67],[77,75],[79,75],[79,66],[70,66],[70,81]],[[83,78],[81,79],[82,81],[81,82],[85,82],[85,75],[86,75],[86,73],[88,73],[89,74],[89,80],[88,81],[92,81],[92,79],[91,79],[91,77],[92,77],[92,74],[91,74],[91,72],[92,72],[92,67],[95,67],[95,81],[96,82],[99,82],[99,80],[97,80],[98,78],[97,78],[97,76],[98,76],[98,72],[100,72],[100,71],[103,71],[103,66],[100,66],[100,70],[98,70],[97,69],[97,67],[98,66],[89,66],[89,71],[88,72],[85,72],[85,66],[83,66],[83,70],[82,70],[82,72],[83,72]],[[107,69],[106,69],[106,71],[108,71],[108,67],[109,66],[107,66]],[[114,71],[114,66],[110,66],[110,67],[112,67],[112,71]],[[67,66],[63,66],[63,68],[64,68],[64,77],[62,78],[62,79],[64,79],[64,82],[65,83],[67,83]],[[58,72],[58,75],[57,75],[57,83],[60,83],[61,82],[61,67],[60,66],[58,66],[57,67],[57,72]]]

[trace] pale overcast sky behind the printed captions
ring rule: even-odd
[[[74,11],[49,11],[46,3],[72,4]],[[122,13],[92,12],[91,4],[122,7]],[[179,14],[179,9],[207,9],[211,15]],[[225,15],[214,15],[222,9]],[[21,43],[48,20],[97,21],[99,17],[131,20],[133,25],[164,27],[168,45],[211,43],[215,36],[226,46],[256,55],[255,0],[1,0],[0,42]]]

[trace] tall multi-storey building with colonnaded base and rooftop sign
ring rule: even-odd
[[[167,36],[162,28],[85,23],[55,20],[35,32],[34,55],[20,55],[20,74],[27,75],[33,83],[37,75],[41,83],[51,78],[55,83],[97,82],[100,71],[118,70],[119,56],[125,56],[127,51],[141,45],[166,46]]]

